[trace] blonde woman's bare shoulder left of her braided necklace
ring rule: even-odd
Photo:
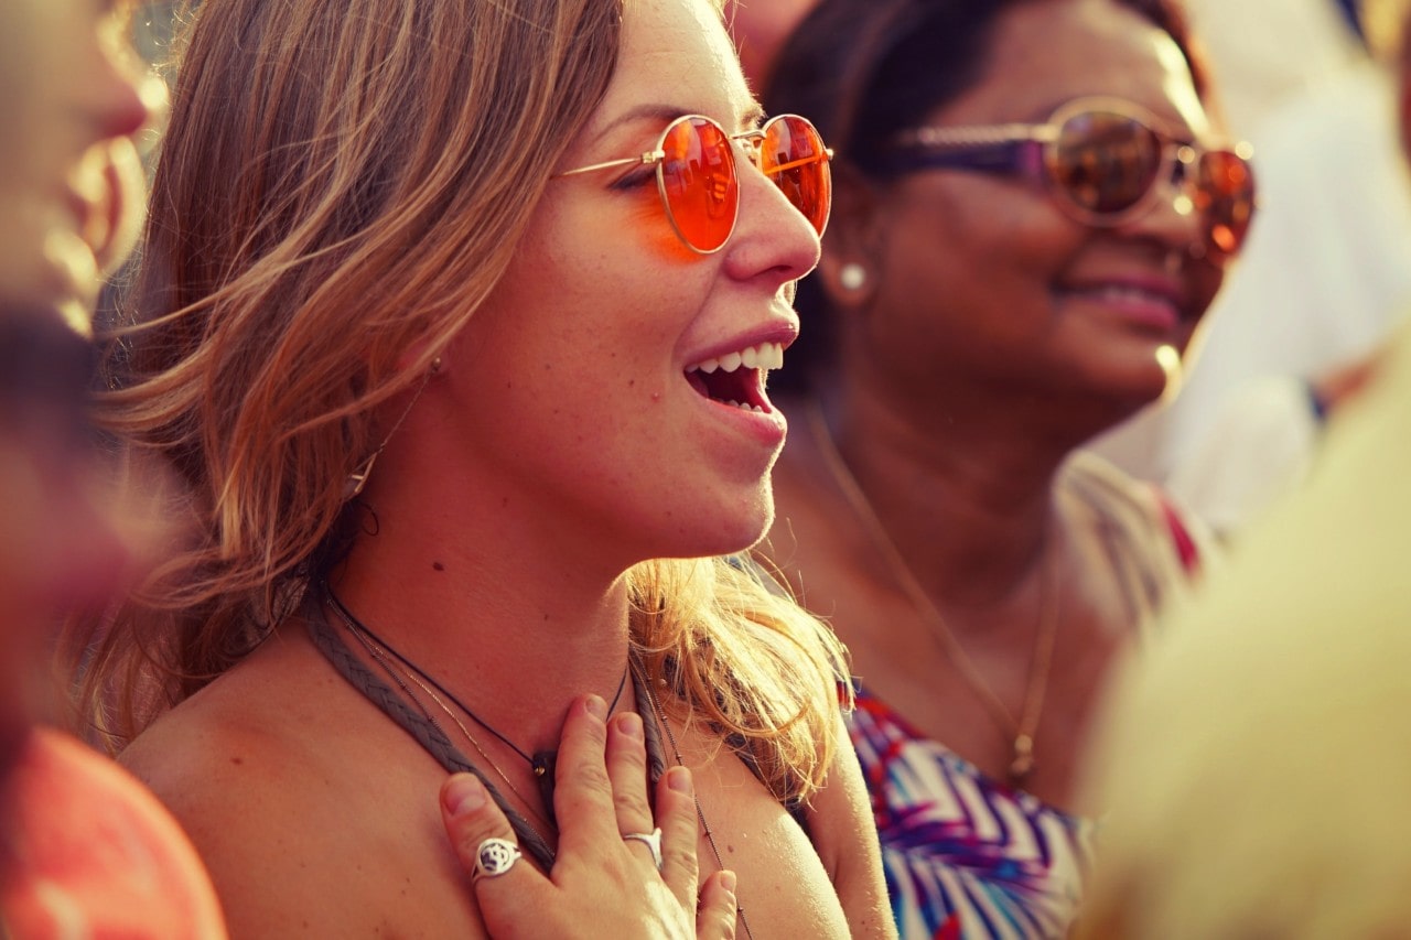
[[[473,933],[440,769],[306,644],[261,649],[120,759],[189,834],[234,937],[435,936],[409,924],[437,909]]]

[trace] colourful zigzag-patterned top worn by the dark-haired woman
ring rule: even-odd
[[[1132,628],[1187,596],[1211,543],[1154,488],[1078,453],[1058,481],[1102,535]],[[897,930],[907,940],[1062,937],[1092,860],[1094,820],[992,781],[868,689],[848,730],[882,841]]]

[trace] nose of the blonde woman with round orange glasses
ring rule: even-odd
[[[777,289],[818,264],[821,246],[813,223],[744,152],[739,162],[739,217],[727,246],[725,271],[739,279],[763,278]]]

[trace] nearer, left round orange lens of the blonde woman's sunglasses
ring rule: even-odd
[[[666,128],[659,165],[662,198],[677,234],[697,251],[715,251],[735,230],[739,179],[729,137],[704,117]]]

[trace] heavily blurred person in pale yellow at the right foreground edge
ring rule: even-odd
[[[1411,127],[1407,0],[1363,4]],[[1411,335],[1318,464],[1119,675],[1084,937],[1400,937],[1411,923]]]

